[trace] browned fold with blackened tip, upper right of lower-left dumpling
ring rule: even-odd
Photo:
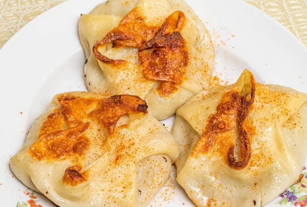
[[[90,117],[95,117],[106,128],[109,133],[113,133],[117,121],[125,114],[147,113],[146,101],[138,96],[115,95],[102,101],[99,109],[90,113]]]

